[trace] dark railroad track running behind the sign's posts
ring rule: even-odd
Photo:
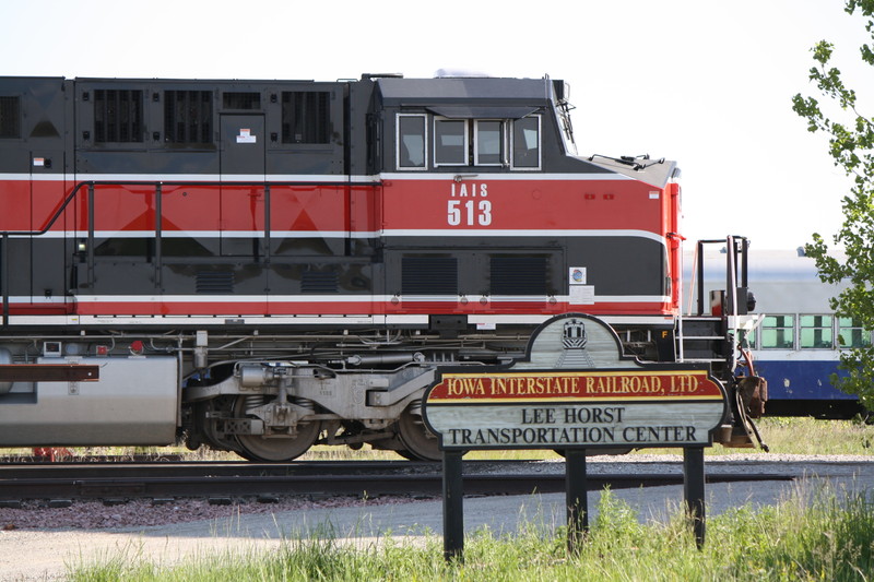
[[[527,495],[565,490],[564,473],[531,473],[524,462],[465,462],[465,495]],[[527,468],[527,471],[523,471]],[[778,474],[714,473],[708,483],[789,480]],[[682,472],[590,474],[589,490],[676,485]],[[0,465],[0,507],[23,500],[167,500],[180,497],[231,502],[283,496],[425,496],[442,492],[439,463],[62,463]]]

